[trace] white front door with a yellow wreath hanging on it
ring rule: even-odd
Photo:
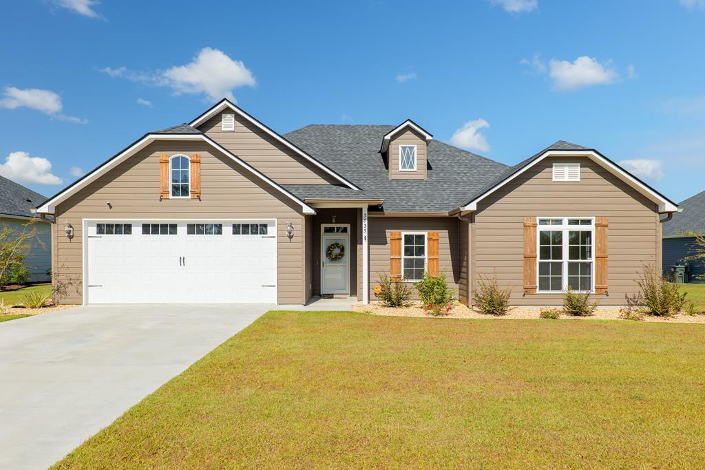
[[[321,294],[350,292],[350,235],[341,232],[321,233]]]

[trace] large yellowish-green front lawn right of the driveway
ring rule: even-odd
[[[705,326],[271,311],[55,469],[703,468]]]

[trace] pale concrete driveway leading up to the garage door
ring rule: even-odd
[[[100,305],[0,323],[0,469],[45,469],[266,305]]]

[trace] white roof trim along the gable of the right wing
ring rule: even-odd
[[[548,157],[551,157],[551,156],[563,156],[563,157],[587,156],[592,161],[599,163],[599,165],[603,166],[608,171],[610,171],[614,175],[618,176],[620,179],[624,180],[628,185],[635,188],[635,190],[639,191],[641,194],[643,194],[644,196],[651,199],[651,201],[656,202],[658,204],[658,211],[659,212],[663,213],[663,212],[676,212],[676,211],[678,211],[678,206],[675,206],[673,203],[669,202],[663,196],[656,193],[650,187],[644,185],[644,183],[640,182],[634,176],[630,175],[630,173],[627,173],[626,171],[619,168],[611,161],[608,161],[605,157],[598,154],[596,151],[592,151],[592,150],[584,150],[584,151],[583,150],[581,150],[581,151],[548,150],[548,151],[544,152],[544,154],[539,156],[539,158],[532,161],[532,163],[529,163],[527,166],[522,168],[520,171],[517,171],[516,173],[513,173],[512,175],[508,176],[507,178],[505,178],[505,180],[501,181],[500,183],[494,185],[494,187],[491,187],[489,190],[480,194],[478,197],[473,199],[470,203],[466,204],[465,206],[461,206],[460,210],[463,212],[477,211],[477,203],[482,201],[482,199],[487,197],[489,194],[495,192],[500,187],[503,187],[505,184],[509,183],[514,178],[517,178],[517,176],[519,176],[522,173],[524,173],[525,171],[529,170],[529,168],[532,168],[532,166],[537,165],[537,163],[539,163],[540,161],[542,161]]]

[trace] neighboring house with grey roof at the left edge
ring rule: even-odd
[[[45,199],[46,196],[0,176],[0,225],[19,231],[37,229],[37,237],[32,240],[30,254],[25,259],[30,281],[34,283],[51,279],[50,223],[34,213],[37,204]]]

